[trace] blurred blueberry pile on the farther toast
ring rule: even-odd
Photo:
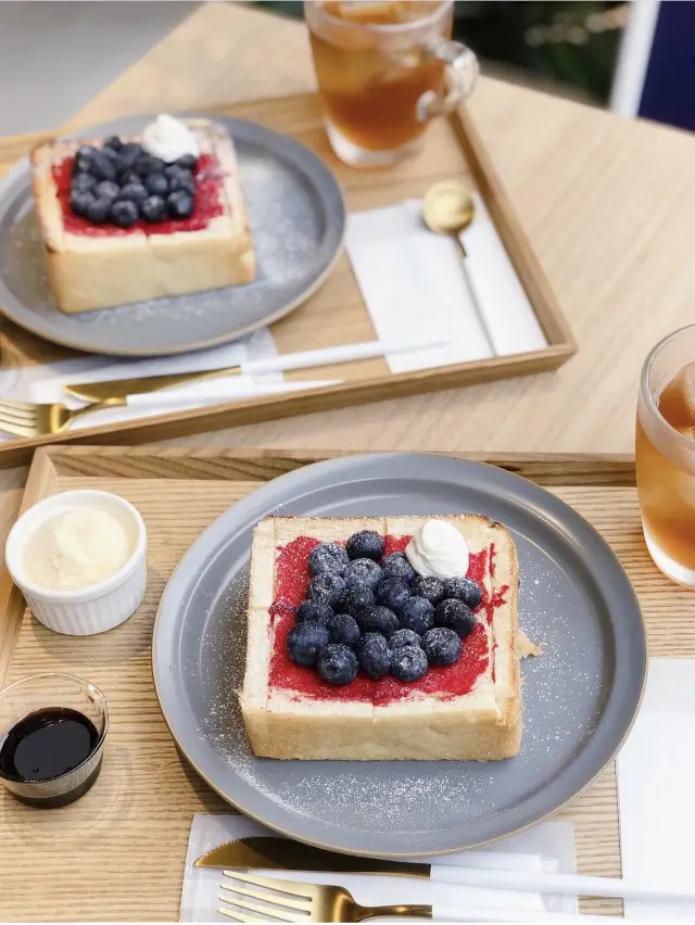
[[[74,213],[96,225],[130,228],[144,221],[181,219],[193,214],[198,160],[192,154],[165,164],[142,145],[108,138],[103,148],[77,149],[70,187]]]

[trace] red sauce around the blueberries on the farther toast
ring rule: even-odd
[[[212,218],[224,213],[220,202],[222,183],[225,173],[212,154],[201,154],[194,170],[195,208],[189,218],[156,221],[151,225],[138,219],[130,228],[116,228],[115,225],[94,225],[87,218],[75,215],[70,207],[70,181],[74,157],[66,157],[60,164],[53,164],[53,180],[58,187],[58,199],[63,212],[65,230],[71,235],[88,235],[92,238],[123,237],[125,235],[173,235],[174,231],[200,231],[206,228]]]

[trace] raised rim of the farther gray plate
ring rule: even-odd
[[[60,140],[60,139],[71,140],[71,139],[78,139],[78,138],[86,138],[86,137],[89,137],[93,132],[102,132],[103,134],[103,132],[106,132],[106,131],[115,130],[115,128],[114,128],[115,126],[117,126],[117,125],[119,125],[124,122],[127,122],[127,121],[131,121],[131,119],[147,121],[147,119],[154,118],[155,115],[156,115],[155,113],[144,113],[144,114],[136,113],[136,114],[131,114],[131,115],[119,116],[118,118],[110,119],[109,122],[98,123],[98,124],[94,124],[94,125],[80,127],[79,129],[76,129],[75,131],[65,132],[65,134],[61,132],[61,134],[55,136],[55,139],[56,140]],[[314,152],[307,145],[303,144],[301,141],[298,141],[295,138],[293,138],[290,135],[283,135],[280,131],[276,131],[273,128],[268,128],[267,126],[263,125],[262,123],[254,122],[253,119],[227,115],[225,113],[194,112],[194,111],[190,111],[190,110],[187,110],[187,111],[184,111],[184,112],[179,111],[177,113],[177,115],[191,117],[191,118],[211,118],[211,119],[223,121],[223,122],[242,123],[247,126],[252,126],[254,128],[254,130],[261,129],[262,132],[264,132],[264,134],[267,134],[267,135],[270,135],[270,136],[277,136],[278,138],[282,139],[283,142],[290,142],[291,147],[295,145],[298,149],[303,150],[320,167],[320,169],[323,172],[325,172],[326,176],[330,178],[330,180],[334,185],[336,192],[338,193],[338,200],[341,204],[340,230],[339,230],[339,233],[338,233],[338,237],[337,237],[334,252],[333,252],[332,256],[329,258],[329,261],[327,262],[324,270],[314,280],[314,282],[311,286],[308,286],[306,289],[304,289],[295,299],[291,300],[289,303],[283,305],[277,312],[275,312],[273,315],[267,315],[260,321],[254,321],[250,325],[247,325],[243,328],[238,328],[233,331],[233,333],[219,334],[215,338],[208,338],[208,339],[202,340],[202,341],[190,342],[190,343],[186,344],[185,346],[162,347],[162,349],[157,349],[156,351],[152,351],[152,350],[142,351],[142,350],[138,350],[137,347],[132,347],[132,349],[128,349],[128,350],[119,349],[119,350],[116,350],[114,352],[113,349],[109,349],[106,346],[94,346],[93,344],[90,344],[89,346],[87,346],[84,343],[75,343],[74,341],[71,340],[70,335],[60,337],[60,339],[55,339],[54,334],[51,333],[50,337],[49,337],[46,332],[46,328],[42,327],[40,324],[36,325],[36,324],[31,324],[30,320],[29,321],[25,321],[24,319],[20,320],[16,317],[16,313],[13,309],[9,309],[7,307],[5,301],[2,300],[2,299],[0,299],[0,315],[4,316],[9,321],[11,321],[12,324],[22,328],[23,330],[28,331],[29,333],[34,334],[35,337],[41,338],[41,340],[49,341],[49,343],[58,344],[59,346],[68,347],[70,350],[79,351],[80,353],[94,354],[97,356],[117,356],[117,357],[131,357],[131,358],[135,358],[135,357],[146,358],[146,357],[157,357],[157,356],[178,356],[179,354],[182,354],[182,353],[193,353],[195,351],[208,350],[208,349],[216,347],[216,346],[224,346],[225,344],[232,343],[233,341],[239,340],[240,338],[243,338],[247,334],[252,333],[253,331],[257,331],[260,328],[269,327],[270,325],[274,325],[276,321],[279,321],[281,318],[283,318],[287,315],[294,312],[296,308],[300,308],[305,302],[307,302],[312,297],[312,295],[314,295],[315,292],[318,291],[318,289],[320,289],[320,287],[326,282],[327,278],[333,271],[338,261],[341,258],[341,256],[343,255],[343,253],[345,251],[345,236],[348,233],[348,205],[346,205],[346,201],[345,201],[345,191],[344,191],[343,187],[341,186],[341,183],[339,182],[338,177],[336,176],[333,170],[330,169],[328,164],[326,164],[318,156],[318,154],[316,152]],[[13,195],[13,202],[16,200],[16,197],[21,193],[21,191],[25,187],[24,173],[25,173],[28,164],[29,164],[29,156],[28,155],[20,160],[20,162],[15,165],[15,167],[13,169],[20,170],[20,168],[22,168],[22,170],[17,174],[16,177],[12,177],[12,176],[10,177],[10,185],[4,192],[1,191],[1,178],[0,178],[0,202],[8,194]],[[29,190],[30,190],[30,175],[28,177],[28,187],[29,187]],[[7,214],[8,207],[9,206],[5,206],[4,211],[2,211],[2,206],[0,206],[0,218],[4,217],[4,215]],[[2,293],[2,292],[4,292],[5,294],[10,294],[14,300],[20,301],[17,299],[17,296],[14,295],[14,293],[9,289],[9,287],[4,282],[3,274],[0,271],[0,293]],[[194,293],[192,293],[192,294],[194,294]],[[137,304],[137,303],[135,303],[135,304]],[[114,308],[111,309],[111,311],[116,311],[119,307],[121,306],[114,306]],[[30,318],[35,316],[35,313],[33,312],[31,306],[24,305],[23,308],[22,308],[22,312],[24,312],[24,311],[29,313]],[[58,312],[59,309],[56,308],[55,311]],[[102,309],[102,311],[110,311],[110,309]],[[37,316],[37,317],[40,317],[40,316]]]

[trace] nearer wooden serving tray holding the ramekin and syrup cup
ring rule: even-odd
[[[192,814],[229,812],[179,756],[152,684],[150,645],[160,596],[181,555],[211,521],[276,476],[331,453],[56,446],[37,452],[22,509],[68,489],[103,489],[132,502],[149,534],[149,586],[140,610],[109,633],[46,630],[0,579],[0,685],[67,671],[105,692],[111,727],[101,777],[72,807],[33,810],[0,795],[0,921],[153,921],[178,917]],[[692,594],[653,565],[642,538],[634,461],[628,457],[469,456],[517,472],[561,497],[610,544],[640,597],[652,656],[695,655]],[[620,875],[610,766],[559,819],[577,825],[579,870]],[[595,900],[586,910],[619,911]]]

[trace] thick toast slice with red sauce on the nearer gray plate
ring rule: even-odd
[[[256,755],[352,760],[497,760],[517,755],[521,740],[518,561],[508,531],[488,518],[443,518],[464,535],[470,552],[469,575],[479,580],[484,593],[476,611],[478,625],[464,641],[458,666],[430,669],[431,676],[413,684],[358,675],[352,685],[331,688],[317,682],[313,669],[290,662],[285,652],[292,607],[308,582],[306,537],[344,542],[359,530],[376,530],[390,537],[391,548],[403,548],[404,537],[429,519],[277,517],[258,523],[251,555],[247,672],[240,695]]]

